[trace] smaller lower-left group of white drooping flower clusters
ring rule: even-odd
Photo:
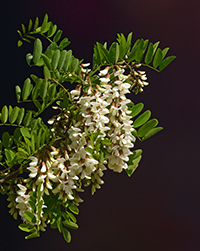
[[[30,157],[31,162],[29,163],[29,167],[27,167],[27,170],[30,171],[29,178],[24,180],[24,182],[28,183],[33,181],[33,185],[31,189],[28,189],[20,183],[17,184],[19,190],[17,190],[15,207],[24,223],[28,223],[27,218],[24,216],[24,212],[32,212],[32,208],[29,205],[30,192],[36,192],[39,185],[41,186],[40,191],[42,193],[42,209],[46,208],[42,197],[44,193],[49,195],[49,190],[52,190],[53,194],[59,193],[58,199],[62,200],[63,203],[67,202],[67,199],[74,200],[72,190],[77,188],[74,181],[78,180],[78,177],[76,175],[70,175],[70,171],[67,170],[64,165],[68,156],[67,153],[65,154],[66,158],[55,159],[55,155],[58,155],[58,151],[54,148],[53,151],[49,153],[49,158],[45,161],[41,161],[34,156]],[[37,211],[35,216],[37,219]],[[38,220],[40,221],[40,229],[44,231],[44,227],[47,225],[45,223],[46,216],[44,216],[43,210],[41,210]]]

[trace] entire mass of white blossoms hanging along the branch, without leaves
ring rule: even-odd
[[[92,182],[92,193],[100,188],[104,183],[101,177],[106,165],[119,173],[128,168],[135,137],[129,116],[131,111],[127,106],[131,102],[126,97],[131,86],[126,82],[127,78],[124,69],[118,68],[111,79],[107,67],[99,72],[98,84],[88,83],[89,88],[82,95],[79,88],[70,92],[72,101],[79,108],[79,119],[71,118],[70,128],[65,132],[69,142],[67,149],[51,147],[45,159],[30,157],[27,167],[30,173],[26,182],[33,181],[32,190],[18,184],[15,207],[24,222],[27,221],[24,211],[31,212],[29,193],[35,192],[39,185],[42,195],[48,196],[51,190],[51,193],[59,194],[58,200],[65,203],[75,200],[81,181]],[[68,115],[65,118],[69,122]],[[92,139],[92,135],[96,137]],[[43,203],[42,208],[45,207]],[[44,219],[41,227],[45,226],[45,217],[41,210],[41,219]]]

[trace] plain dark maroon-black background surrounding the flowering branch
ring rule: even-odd
[[[93,44],[111,44],[117,33],[161,41],[177,59],[163,72],[146,69],[150,85],[132,96],[144,102],[164,130],[136,148],[144,150],[139,168],[105,172],[101,190],[87,190],[79,229],[67,244],[57,230],[24,240],[1,197],[0,250],[186,251],[200,250],[200,1],[198,0],[35,0],[2,1],[0,15],[0,104],[16,105],[14,86],[34,69],[25,63],[32,47],[18,49],[17,29],[29,18],[49,19],[64,30],[69,48],[91,62]]]

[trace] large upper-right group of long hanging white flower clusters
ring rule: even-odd
[[[107,147],[108,153],[105,156],[104,164],[108,164],[108,167],[115,172],[122,172],[128,167],[126,162],[132,153],[130,148],[134,146],[135,138],[132,135],[134,129],[131,124],[133,121],[128,115],[130,111],[127,107],[131,101],[125,96],[130,92],[130,84],[125,82],[127,76],[123,73],[124,69],[119,69],[114,73],[116,80],[111,81],[108,68],[100,71],[100,83],[96,86],[95,93],[89,88],[85,96],[78,101],[82,120],[74,121],[74,127],[69,130],[69,135],[72,141],[71,148],[75,152],[74,156],[78,156],[73,156],[73,158],[76,159],[78,173],[82,173],[81,178],[84,178],[85,175],[90,177],[91,173],[98,170],[99,165],[102,164],[98,160],[92,160],[90,154],[85,150],[86,147],[92,147],[90,140],[86,140],[88,131],[93,133],[99,131],[101,134],[98,137],[101,137],[102,141],[104,138],[108,138],[111,142]],[[80,91],[73,92],[73,94],[77,99]],[[82,129],[80,129],[81,126]],[[84,152],[81,164],[78,162],[80,152]],[[83,169],[88,158],[91,159],[90,168]]]

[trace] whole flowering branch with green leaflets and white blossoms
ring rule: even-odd
[[[166,57],[169,48],[161,50],[159,42],[138,39],[132,45],[132,33],[127,38],[121,33],[109,48],[94,45],[90,69],[65,49],[69,40],[61,40],[62,31],[47,14],[41,26],[36,18],[18,33],[19,47],[34,41],[26,61],[42,67],[43,76],[31,74],[15,87],[19,106],[1,109],[1,125],[15,130],[12,135],[5,131],[0,141],[0,191],[8,195],[13,217],[20,215],[26,239],[39,237],[50,224],[70,242],[68,229],[78,228],[78,192],[91,185],[94,194],[107,168],[131,176],[142,157],[141,149],[132,150],[136,139],[162,130],[149,110],[142,112],[143,103],[126,97],[148,84],[139,68],[160,72],[175,57]],[[49,42],[46,48],[43,39]],[[70,83],[76,84],[71,91]],[[26,102],[35,109],[21,107]],[[57,111],[46,123],[42,113],[51,107]]]

